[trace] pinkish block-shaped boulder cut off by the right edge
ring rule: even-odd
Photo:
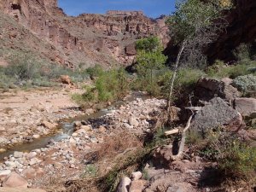
[[[256,118],[256,99],[254,98],[236,98],[235,108],[242,116]]]

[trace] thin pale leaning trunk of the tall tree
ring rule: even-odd
[[[179,61],[180,61],[180,57],[183,54],[183,49],[185,47],[185,44],[186,44],[186,42],[184,41],[183,44],[182,44],[182,47],[178,51],[178,55],[177,55],[177,59],[176,59],[175,67],[174,67],[174,73],[172,75],[172,82],[171,82],[171,85],[170,85],[170,92],[169,92],[169,96],[168,96],[168,100],[167,100],[167,102],[168,102],[167,103],[167,113],[168,113],[168,115],[171,112],[171,99],[172,99],[174,81],[175,81],[176,76],[177,76],[178,64],[179,64]]]

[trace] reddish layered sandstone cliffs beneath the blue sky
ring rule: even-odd
[[[107,15],[70,17],[56,0],[0,0],[0,9],[57,50],[52,61],[68,67],[83,62],[111,67],[131,64],[138,38],[158,35],[168,40],[165,18],[152,20],[135,11],[108,11]]]

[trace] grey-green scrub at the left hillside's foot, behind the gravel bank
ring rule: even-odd
[[[0,67],[0,88],[56,86],[55,79],[59,79],[61,75],[68,75],[73,83],[88,78],[86,71],[61,67],[34,55],[12,55],[9,58],[9,65]]]

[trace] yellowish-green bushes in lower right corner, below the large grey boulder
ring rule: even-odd
[[[223,129],[207,132],[198,146],[205,160],[218,162],[225,178],[251,179],[256,173],[256,148]]]

